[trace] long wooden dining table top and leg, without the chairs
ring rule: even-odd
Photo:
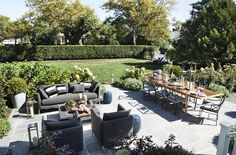
[[[178,87],[178,85],[174,83],[164,82],[153,76],[145,77],[145,79],[148,80],[149,83],[151,84],[157,85],[162,88],[166,88],[180,95],[183,95],[185,97],[185,114],[187,114],[188,112],[189,97],[193,97],[193,98],[201,99],[201,100],[207,100],[209,98],[219,97],[223,95],[222,93],[217,93],[215,91],[208,90],[206,88],[201,89],[201,94],[204,94],[204,95],[198,95],[197,93],[192,93],[192,91],[188,90],[185,87]]]

